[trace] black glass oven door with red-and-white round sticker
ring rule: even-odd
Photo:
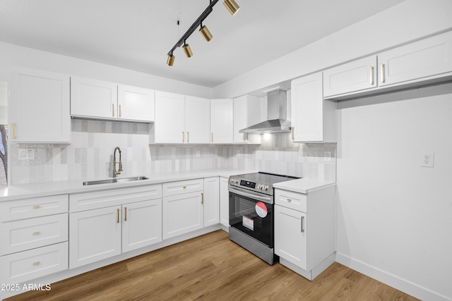
[[[229,188],[230,226],[273,248],[273,197]]]

